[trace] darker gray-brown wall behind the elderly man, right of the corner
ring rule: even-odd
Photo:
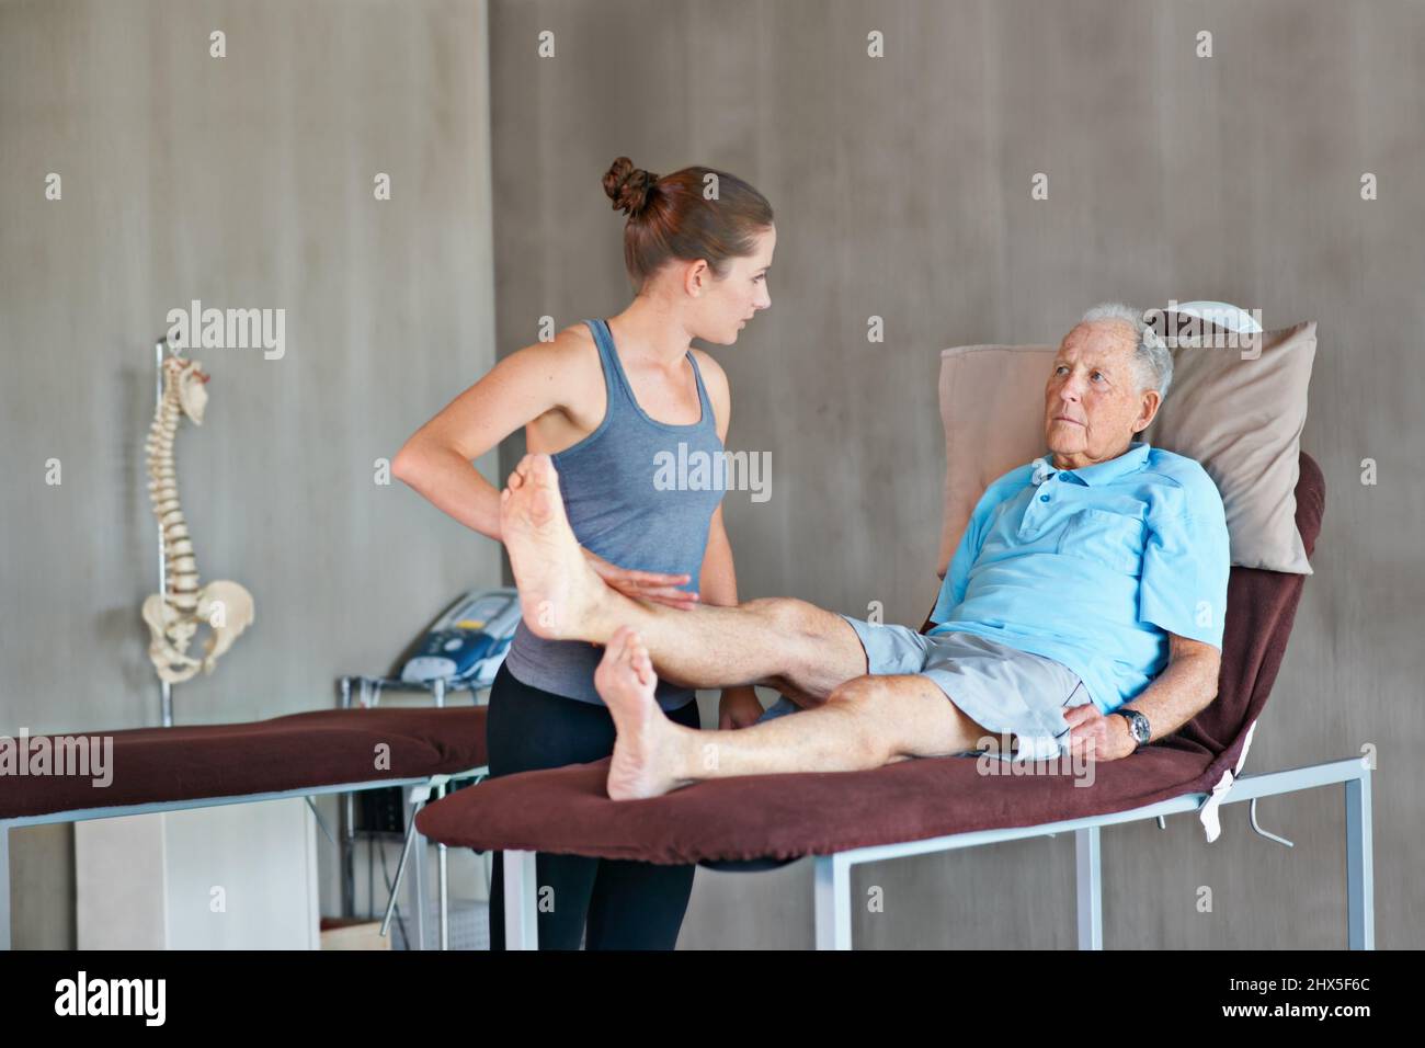
[[[543,30],[553,58],[537,57]],[[866,57],[872,30],[885,58]],[[1375,744],[1378,942],[1422,942],[1419,4],[494,0],[490,43],[502,346],[544,314],[564,325],[628,301],[598,185],[620,154],[724,167],[777,210],[774,305],[737,346],[708,346],[731,378],[730,446],[772,455],[771,500],[727,503],[745,596],[862,616],[879,600],[921,623],[946,345],[1056,341],[1102,298],[1320,321],[1304,446],[1325,471],[1325,526],[1248,770]],[[1030,200],[1036,173],[1046,201]],[[1297,847],[1253,834],[1241,807],[1213,846],[1191,816],[1106,831],[1107,945],[1344,945],[1341,791],[1264,801],[1261,820]],[[1070,838],[879,864],[855,884],[885,891],[885,913],[855,920],[862,945],[1073,945]],[[808,945],[808,890],[805,865],[700,871],[681,945]]]

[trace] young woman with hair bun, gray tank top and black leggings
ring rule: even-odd
[[[500,492],[470,461],[524,426],[529,451],[553,455],[584,556],[614,589],[693,607],[737,603],[721,490],[668,489],[660,462],[720,453],[731,413],[727,375],[694,338],[732,345],[771,305],[767,269],[777,231],[767,200],[705,167],[661,178],[620,157],[603,180],[624,225],[624,265],[637,288],[617,317],[563,329],[510,354],[423,425],[392,469],[439,509],[500,538]],[[657,478],[657,479],[656,479]],[[589,763],[613,753],[614,726],[594,690],[601,650],[549,642],[523,622],[490,692],[490,774]],[[658,704],[698,726],[691,690],[660,683]],[[751,687],[722,692],[721,727],[762,714]],[[476,787],[479,788],[479,787]],[[503,870],[494,856],[490,945],[504,945]],[[546,856],[540,947],[671,950],[694,867]],[[543,898],[543,895],[542,895]],[[586,927],[587,925],[587,927]]]

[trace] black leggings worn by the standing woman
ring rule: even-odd
[[[698,704],[668,713],[698,727]],[[490,687],[486,721],[490,777],[587,764],[614,751],[614,721],[604,706],[542,692],[502,666]],[[476,786],[476,790],[480,787]],[[504,863],[494,853],[490,878],[490,948],[504,950]],[[623,858],[546,856],[534,860],[540,950],[673,950],[693,893],[693,865],[656,865]],[[546,890],[553,888],[551,895]]]

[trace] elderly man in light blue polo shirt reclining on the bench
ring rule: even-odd
[[[608,796],[879,767],[988,736],[1022,757],[1113,760],[1191,719],[1217,694],[1228,549],[1203,468],[1133,439],[1171,369],[1140,312],[1084,314],[1045,384],[1049,455],[980,498],[928,635],[785,597],[691,612],[630,600],[580,555],[549,456],[526,456],[502,493],[502,535],[529,627],[606,646]],[[685,729],[654,702],[656,673],[767,684],[801,710]]]

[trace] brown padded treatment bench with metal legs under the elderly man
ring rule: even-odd
[[[1301,455],[1297,525],[1308,553],[1321,528],[1325,485],[1321,469]],[[802,856],[818,860],[818,942],[845,947],[849,940],[849,895],[845,870],[854,861],[892,854],[935,850],[915,841],[953,838],[990,831],[999,838],[1040,836],[1054,826],[1110,813],[1139,811],[1159,804],[1187,811],[1200,807],[1214,786],[1218,794],[1233,786],[1233,800],[1281,793],[1304,786],[1345,781],[1359,786],[1368,773],[1359,760],[1338,761],[1314,777],[1312,769],[1273,773],[1295,776],[1291,783],[1254,783],[1233,773],[1244,757],[1250,730],[1267,702],[1291,633],[1301,575],[1234,567],[1217,699],[1183,726],[1143,751],[1099,763],[1096,781],[1083,787],[1070,774],[982,774],[973,757],[921,759],[869,771],[789,773],[721,779],[684,787],[661,797],[613,801],[606,791],[608,760],[561,769],[526,771],[484,781],[428,806],[418,817],[419,830],[450,846],[506,853],[506,921],[512,944],[533,942],[533,853],[566,853],[650,863],[703,863],[727,868],[748,863]],[[1301,779],[1307,776],[1310,783]],[[1325,779],[1322,779],[1325,776]],[[1321,781],[1317,781],[1317,780]],[[1368,787],[1368,777],[1364,783]],[[1204,794],[1204,796],[1198,796]],[[1196,796],[1184,803],[1186,796]],[[1349,798],[1357,794],[1348,793]],[[1164,801],[1177,803],[1161,806]],[[1359,798],[1368,813],[1369,794]],[[1217,803],[1223,803],[1218,798]],[[1216,804],[1201,813],[1208,838],[1216,837]],[[1208,818],[1208,814],[1211,818]],[[1129,821],[1127,818],[1102,820]],[[1053,826],[1052,826],[1053,824]],[[1097,883],[1097,824],[1079,833],[1080,873]],[[1043,827],[1049,826],[1049,830]],[[1025,831],[1012,830],[1025,827]],[[1357,827],[1361,828],[1361,827]],[[1368,818],[1364,841],[1368,846]],[[965,847],[988,838],[943,841],[939,847]],[[882,847],[885,846],[885,847]],[[874,851],[881,847],[881,851]],[[859,851],[872,850],[872,851]],[[848,856],[849,853],[849,856]],[[761,860],[761,863],[758,863]],[[1369,854],[1365,854],[1364,907],[1369,908]],[[1357,871],[1352,881],[1361,887]],[[1092,893],[1090,893],[1092,894]],[[1097,913],[1102,904],[1086,897],[1080,878],[1080,942],[1102,942]],[[824,905],[825,904],[825,905]],[[519,913],[514,913],[520,908]],[[1352,944],[1357,937],[1357,898],[1352,894]],[[1367,930],[1361,935],[1368,935]],[[1097,940],[1097,941],[1096,941]]]

